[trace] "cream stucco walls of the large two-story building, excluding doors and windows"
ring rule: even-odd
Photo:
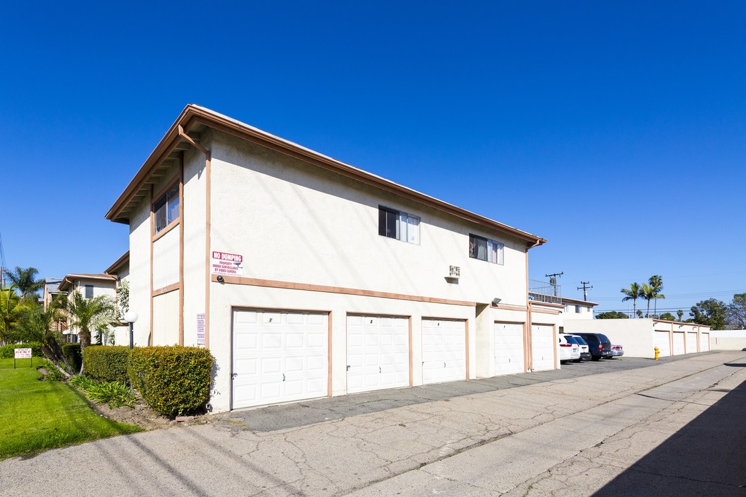
[[[524,241],[433,212],[386,191],[222,133],[207,131],[201,135],[200,142],[212,151],[210,247],[242,255],[243,276],[482,304],[499,297],[502,305],[526,306]],[[178,172],[172,169],[167,176]],[[165,186],[168,181],[161,183]],[[197,344],[197,315],[206,311],[205,191],[204,155],[186,151],[181,199],[184,215],[178,229],[184,231],[184,344],[187,346]],[[418,216],[420,243],[409,244],[378,235],[379,205]],[[151,199],[143,200],[131,220],[131,308],[140,314],[135,326],[139,345],[147,343],[151,312],[150,209]],[[173,232],[178,234],[178,229]],[[470,259],[470,232],[503,242],[504,264]],[[169,232],[166,236],[170,235]],[[164,245],[170,247],[163,250],[166,263],[173,260],[169,254],[178,260],[175,244]],[[158,254],[159,250],[155,252]],[[154,260],[155,289],[172,281],[159,276],[164,272],[159,260]],[[444,278],[448,265],[461,267],[462,276],[457,282]],[[422,379],[423,317],[467,320],[470,378],[494,374],[494,322],[526,320],[526,311],[486,308],[477,320],[474,306],[217,282],[209,285],[209,341],[216,358],[210,399],[214,411],[230,408],[234,308],[329,311],[333,395],[347,391],[348,314],[411,318],[413,384],[421,384]],[[178,291],[155,297],[154,344],[173,344],[178,339],[178,299]],[[542,315],[542,318],[539,322],[557,323],[556,316]]]

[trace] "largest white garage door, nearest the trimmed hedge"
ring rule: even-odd
[[[233,311],[233,409],[327,395],[328,314]]]

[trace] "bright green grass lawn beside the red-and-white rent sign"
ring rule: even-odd
[[[29,359],[19,359],[14,370],[12,358],[0,359],[0,460],[141,431],[98,415],[65,383],[40,381],[42,361],[34,358],[31,368]]]

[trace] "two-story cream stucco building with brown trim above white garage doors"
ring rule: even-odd
[[[136,343],[209,347],[214,411],[559,367],[543,238],[203,107],[106,217]]]

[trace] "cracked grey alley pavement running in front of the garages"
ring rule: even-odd
[[[0,461],[0,495],[744,497],[745,382],[709,352],[233,412]]]

